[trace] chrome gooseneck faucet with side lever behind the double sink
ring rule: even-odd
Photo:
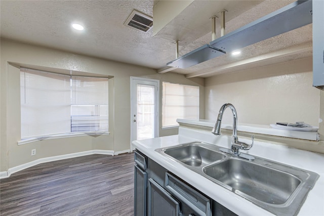
[[[223,152],[230,153],[235,156],[246,158],[248,160],[254,160],[254,157],[252,157],[250,155],[246,155],[246,154],[241,155],[241,153],[239,152],[240,149],[249,150],[252,148],[253,143],[254,143],[254,136],[252,135],[252,144],[251,145],[238,141],[238,138],[237,138],[237,114],[236,114],[236,109],[232,104],[226,103],[220,108],[220,110],[218,112],[217,121],[215,123],[215,126],[212,129],[212,133],[215,135],[221,135],[222,118],[223,118],[224,111],[227,107],[229,107],[233,113],[233,136],[232,136],[232,142],[231,142],[231,150],[229,151],[228,149],[222,149],[222,148],[219,150],[223,151]]]

